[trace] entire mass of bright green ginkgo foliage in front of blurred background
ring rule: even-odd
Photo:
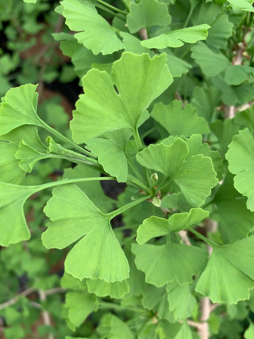
[[[65,250],[65,338],[232,338],[226,326],[248,312],[234,338],[252,338],[252,1],[62,0],[55,11],[82,93],[69,138],[41,117],[36,84],[2,98],[0,245],[29,242],[24,206],[52,188],[42,244]],[[29,185],[46,159],[65,161],[62,178]],[[104,181],[125,183],[118,200]]]

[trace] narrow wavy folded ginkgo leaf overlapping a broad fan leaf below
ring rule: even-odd
[[[176,213],[170,216],[168,220],[158,216],[150,216],[138,227],[136,241],[142,245],[151,238],[159,237],[169,232],[185,230],[208,216],[209,213],[201,208],[192,208],[189,213]]]

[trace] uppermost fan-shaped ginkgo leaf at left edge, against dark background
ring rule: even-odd
[[[0,135],[7,134],[22,125],[44,126],[36,114],[37,85],[22,85],[11,88],[0,106]]]

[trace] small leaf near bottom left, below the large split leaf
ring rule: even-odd
[[[69,291],[66,293],[64,308],[67,309],[67,319],[79,327],[96,308],[96,298],[86,290]]]

